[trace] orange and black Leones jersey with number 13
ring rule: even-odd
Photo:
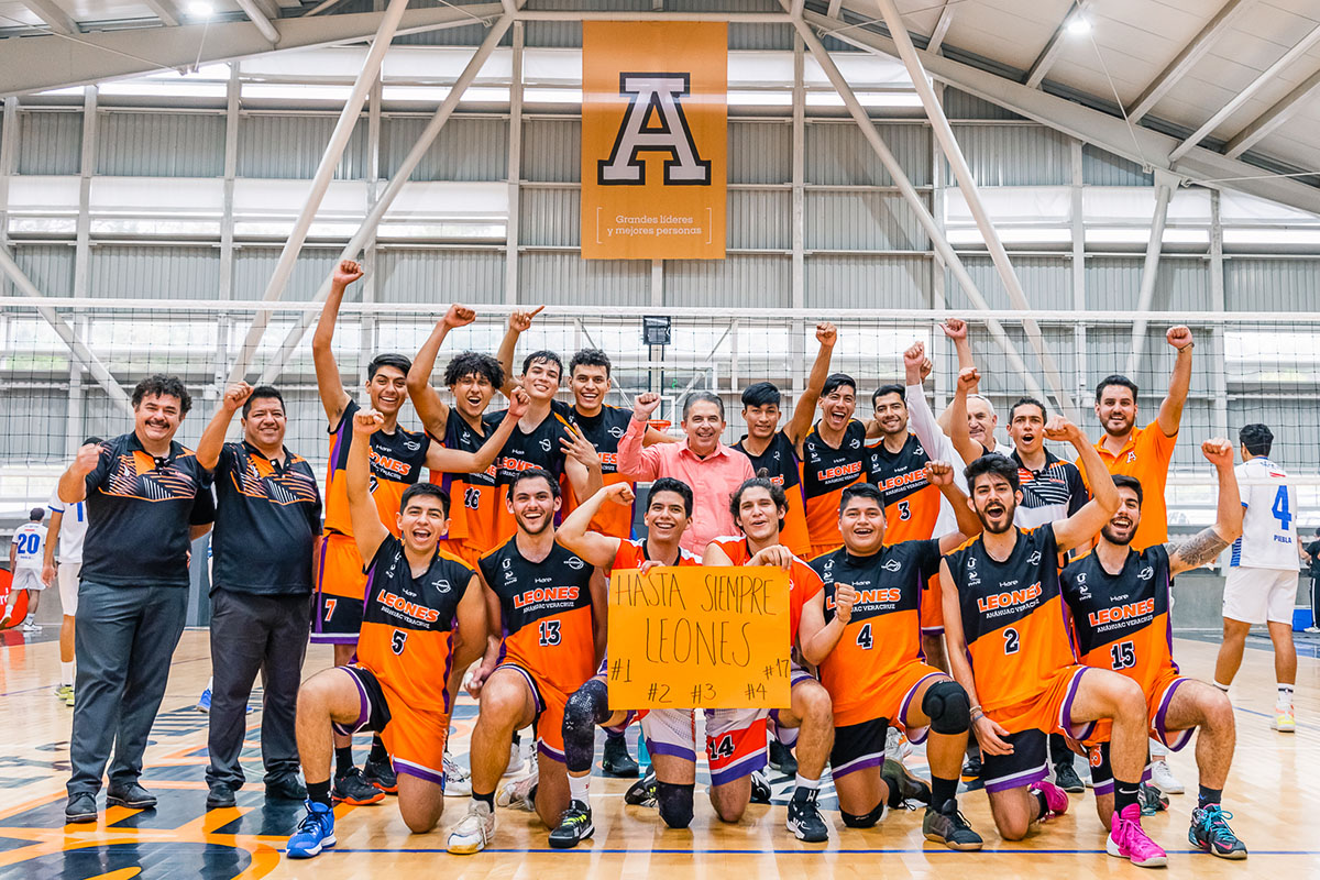
[[[517,664],[561,694],[595,673],[591,566],[558,542],[545,559],[531,562],[515,537],[483,555],[480,570],[499,598],[499,662]]]

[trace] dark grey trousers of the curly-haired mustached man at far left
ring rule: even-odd
[[[165,697],[170,660],[183,633],[187,587],[78,584],[74,731],[69,794],[132,785],[143,774],[147,735]]]

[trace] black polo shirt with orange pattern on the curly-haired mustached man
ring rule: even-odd
[[[210,482],[181,443],[170,442],[158,459],[143,450],[136,433],[103,443],[87,475],[82,579],[187,587],[189,526],[214,520]]]

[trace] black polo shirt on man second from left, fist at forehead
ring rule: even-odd
[[[280,464],[247,441],[220,449],[213,588],[310,594],[312,554],[319,533],[321,492],[306,459],[285,449]]]

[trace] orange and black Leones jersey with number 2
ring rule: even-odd
[[[1060,669],[1077,662],[1059,587],[1053,525],[1014,530],[1018,540],[1003,562],[986,551],[983,536],[945,557],[987,714],[1038,699]]]

